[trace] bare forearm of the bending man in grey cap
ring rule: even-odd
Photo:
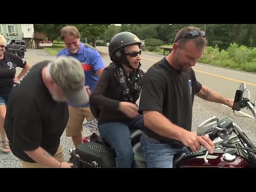
[[[57,161],[54,157],[52,157],[46,150],[42,147],[38,147],[35,150],[24,151],[30,158],[32,158],[35,162],[42,164],[51,168],[60,167],[60,162]]]

